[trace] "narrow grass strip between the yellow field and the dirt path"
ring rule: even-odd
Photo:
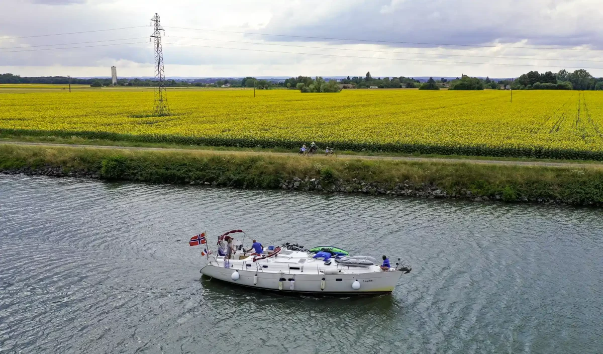
[[[165,148],[178,150],[208,150],[208,151],[247,151],[257,153],[297,153],[297,150],[287,148],[244,148],[244,147],[216,147],[207,145],[182,145],[174,143],[160,142],[136,142],[125,140],[108,139],[87,139],[80,136],[31,136],[22,134],[11,134],[0,130],[0,141],[5,142],[40,142],[52,144],[71,144],[71,145],[101,145],[108,147],[134,147],[134,148]],[[403,154],[387,153],[374,151],[336,151],[337,155],[342,156],[377,156],[377,157],[425,157],[449,160],[497,160],[497,161],[525,161],[525,162],[554,162],[554,163],[592,163],[601,164],[601,161],[593,160],[557,160],[557,159],[534,159],[529,157],[490,157],[490,156],[461,156],[461,155],[437,155],[437,154]],[[320,154],[318,154],[320,155]]]

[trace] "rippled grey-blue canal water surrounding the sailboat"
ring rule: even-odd
[[[0,175],[0,352],[600,353],[600,209]],[[201,279],[207,230],[402,254],[391,295]]]

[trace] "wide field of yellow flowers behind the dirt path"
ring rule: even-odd
[[[0,92],[0,130],[103,139],[603,160],[603,92],[169,90]]]

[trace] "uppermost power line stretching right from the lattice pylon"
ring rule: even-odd
[[[504,46],[504,45],[472,45],[472,44],[453,44],[453,43],[398,42],[395,40],[311,37],[311,36],[294,36],[292,34],[272,34],[272,33],[254,33],[254,32],[241,32],[241,31],[207,30],[205,28],[189,28],[189,27],[174,27],[174,26],[165,26],[165,28],[176,28],[179,30],[208,31],[208,32],[219,32],[219,33],[255,34],[257,36],[276,36],[276,37],[293,37],[293,38],[326,39],[326,40],[348,40],[350,42],[396,43],[396,44],[437,45],[437,46],[466,46],[466,47],[477,47],[477,48],[546,49],[546,50],[560,50],[560,51],[603,51],[603,49],[545,48],[545,47],[538,47],[538,46]]]

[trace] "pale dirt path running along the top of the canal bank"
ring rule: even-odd
[[[202,151],[215,154],[267,154],[276,156],[297,157],[297,153],[271,153],[264,151],[225,151],[225,150],[200,150],[200,149],[175,149],[175,148],[149,148],[149,147],[122,147],[112,145],[81,145],[81,144],[53,144],[44,142],[11,142],[0,141],[0,144],[8,145],[31,145],[42,147],[77,147],[95,149],[122,149],[143,151]],[[552,167],[575,167],[575,168],[603,168],[603,163],[573,163],[573,162],[541,162],[541,161],[513,161],[513,160],[477,160],[477,159],[444,159],[441,157],[411,157],[411,156],[363,156],[363,155],[337,155],[338,159],[367,159],[367,160],[402,160],[420,162],[442,162],[442,163],[477,163],[483,165],[516,165],[516,166],[552,166]]]

